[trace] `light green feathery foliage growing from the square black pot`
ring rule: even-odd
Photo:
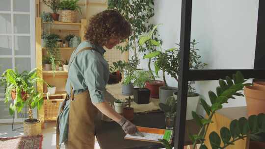
[[[146,82],[155,80],[152,72],[150,71],[136,71],[133,75],[133,85],[138,86],[140,89],[144,88]]]

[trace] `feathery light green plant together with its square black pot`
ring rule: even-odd
[[[137,88],[133,89],[133,99],[137,104],[148,104],[150,97],[150,90],[145,88],[145,82],[155,80],[150,71],[136,71],[133,75],[133,85]]]

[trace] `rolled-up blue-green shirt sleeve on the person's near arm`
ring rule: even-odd
[[[84,79],[93,104],[104,102],[106,90],[104,73],[106,72],[104,71],[103,63],[97,59],[90,60],[89,65],[85,68]]]

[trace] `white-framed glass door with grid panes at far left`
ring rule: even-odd
[[[22,72],[36,67],[34,5],[35,0],[0,0],[0,74],[6,69]],[[0,123],[12,123],[3,97],[0,87]],[[27,109],[22,113],[27,117]],[[14,122],[23,122],[21,114],[14,117]]]

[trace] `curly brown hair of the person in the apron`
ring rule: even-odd
[[[104,46],[112,37],[128,38],[132,33],[130,23],[116,10],[105,10],[90,19],[85,39],[91,44]]]

